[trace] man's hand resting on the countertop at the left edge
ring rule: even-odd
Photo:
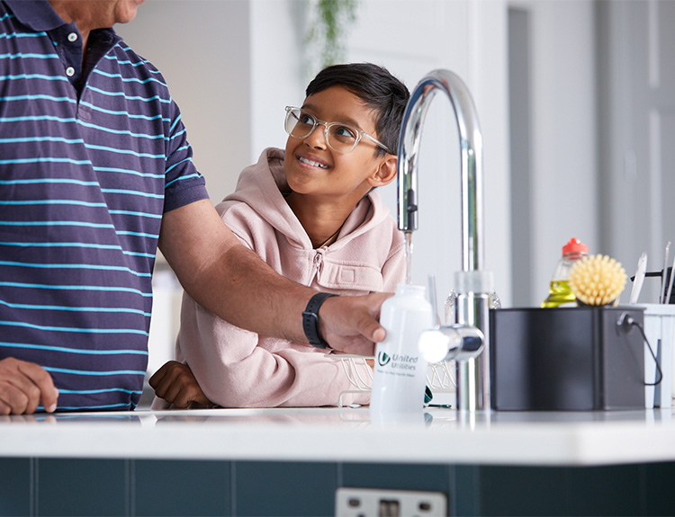
[[[40,400],[53,413],[57,399],[58,389],[40,365],[14,357],[0,361],[0,414],[31,414]]]

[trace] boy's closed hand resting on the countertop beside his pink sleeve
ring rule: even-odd
[[[149,380],[150,387],[155,389],[155,395],[163,398],[175,407],[184,408],[191,402],[202,406],[213,406],[200,388],[197,379],[194,379],[193,370],[182,362],[168,361],[155,372]]]

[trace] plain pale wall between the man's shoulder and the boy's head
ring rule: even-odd
[[[115,27],[165,76],[214,203],[251,160],[250,26],[247,0],[148,0]]]

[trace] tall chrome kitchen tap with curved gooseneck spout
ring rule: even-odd
[[[410,94],[399,140],[399,229],[411,234],[418,227],[420,135],[429,104],[439,91],[448,96],[455,110],[461,149],[463,271],[455,273],[455,323],[478,328],[483,336],[480,355],[456,362],[457,409],[487,410],[490,409],[489,297],[492,275],[481,269],[482,136],[469,90],[448,70],[430,72]],[[407,240],[410,242],[410,238]],[[448,359],[452,357],[449,352]]]

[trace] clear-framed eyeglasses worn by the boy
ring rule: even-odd
[[[326,143],[331,149],[338,151],[338,153],[345,155],[351,153],[361,141],[361,138],[365,137],[382,147],[389,154],[392,154],[392,151],[382,142],[371,137],[361,129],[354,128],[349,124],[343,124],[342,122],[324,122],[317,119],[308,111],[293,108],[293,106],[286,106],[284,129],[293,138],[307,138],[319,125],[325,128]]]

